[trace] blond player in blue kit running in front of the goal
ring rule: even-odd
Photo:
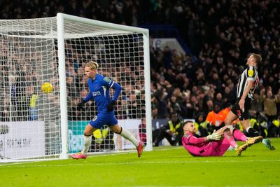
[[[120,127],[118,120],[114,115],[113,108],[116,105],[122,88],[118,83],[102,76],[101,74],[98,74],[97,68],[97,62],[90,61],[85,65],[85,77],[88,78],[87,83],[90,92],[87,97],[78,104],[78,109],[80,109],[90,99],[94,99],[97,105],[97,116],[92,118],[90,123],[85,126],[83,151],[75,153],[71,155],[71,157],[74,159],[87,158],[87,151],[92,142],[92,133],[95,130],[100,129],[103,125],[108,125],[113,132],[130,140],[132,144],[137,147],[138,157],[140,157],[144,150],[144,143],[137,141],[137,139],[135,139],[129,131]],[[112,99],[110,97],[109,88],[113,88],[115,90]]]

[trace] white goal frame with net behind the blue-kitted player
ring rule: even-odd
[[[123,87],[119,123],[152,151],[148,29],[63,13],[0,20],[0,48],[0,162],[66,159],[83,148],[84,127],[97,112],[92,101],[77,109],[88,93],[83,69],[90,60]],[[53,91],[43,92],[43,83]],[[135,147],[105,125],[90,153],[109,151]]]

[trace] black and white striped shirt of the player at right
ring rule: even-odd
[[[253,100],[255,88],[257,88],[258,81],[259,81],[258,71],[256,71],[255,67],[247,67],[241,74],[241,77],[239,78],[239,82],[237,85],[237,98],[242,97],[243,92],[245,91],[246,85],[248,84],[249,80],[253,81],[253,85],[250,92],[248,92],[247,97]]]

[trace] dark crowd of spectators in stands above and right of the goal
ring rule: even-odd
[[[264,113],[269,124],[279,119],[279,1],[13,2],[1,2],[2,19],[41,18],[62,12],[123,25],[175,25],[197,60],[168,46],[163,50],[151,46],[153,118],[168,118],[172,112],[196,118],[201,112],[207,116],[215,103],[222,108],[231,106],[248,53],[260,53],[260,83],[255,95],[260,97],[253,101],[251,115],[257,118]]]

